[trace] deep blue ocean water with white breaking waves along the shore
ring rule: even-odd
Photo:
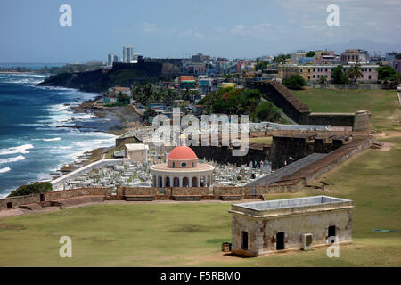
[[[22,184],[51,178],[86,151],[114,144],[113,134],[92,127],[107,126],[110,118],[70,109],[96,94],[37,86],[44,79],[0,73],[0,198]],[[82,128],[56,127],[72,124]]]

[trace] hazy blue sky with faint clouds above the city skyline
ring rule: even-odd
[[[72,27],[59,7],[72,7]],[[328,27],[329,4],[340,27]],[[298,49],[401,50],[401,0],[2,0],[0,62],[106,61],[123,45],[149,57],[256,57]]]

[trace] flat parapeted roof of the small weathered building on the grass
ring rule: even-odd
[[[233,204],[229,212],[248,216],[289,216],[344,208],[354,208],[352,200],[322,195]]]

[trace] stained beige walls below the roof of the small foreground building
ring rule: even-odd
[[[336,227],[339,242],[352,242],[352,210],[339,209],[302,215],[252,217],[233,213],[233,253],[242,254],[242,232],[249,234],[249,249],[255,255],[276,251],[276,234],[285,232],[285,249],[300,249],[303,233],[313,234],[313,245],[327,245],[328,228]]]

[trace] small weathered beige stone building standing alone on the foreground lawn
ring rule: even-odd
[[[352,242],[352,200],[315,196],[233,204],[232,252],[258,256]]]

